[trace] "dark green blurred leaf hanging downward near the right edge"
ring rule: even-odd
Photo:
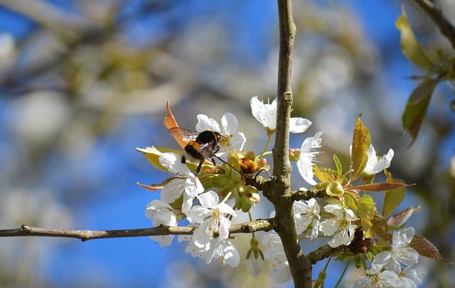
[[[403,129],[410,132],[412,137],[411,144],[417,138],[417,134],[419,134],[425,114],[427,114],[429,100],[432,98],[434,87],[436,87],[438,82],[438,78],[429,78],[422,81],[407,100],[407,105],[405,112],[402,114],[401,121]]]

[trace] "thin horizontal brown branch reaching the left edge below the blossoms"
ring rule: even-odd
[[[234,233],[252,233],[256,231],[269,231],[274,227],[274,219],[259,219],[252,222],[233,224],[229,232]],[[68,230],[54,228],[37,228],[28,225],[22,225],[17,229],[0,230],[0,237],[54,237],[54,238],[76,238],[82,241],[107,238],[127,238],[143,236],[160,236],[160,235],[191,235],[195,227],[180,227],[160,225],[154,228],[138,228],[123,230]]]

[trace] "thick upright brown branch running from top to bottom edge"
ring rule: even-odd
[[[273,151],[273,178],[264,183],[263,193],[273,203],[275,230],[282,240],[294,287],[311,287],[311,262],[305,257],[296,235],[291,194],[289,163],[289,119],[291,117],[292,53],[296,26],[292,18],[291,0],[278,0],[279,59],[277,83],[277,135]]]

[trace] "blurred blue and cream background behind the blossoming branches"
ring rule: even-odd
[[[250,98],[276,96],[275,2],[0,0],[0,229],[150,227],[145,207],[159,193],[136,182],[159,183],[168,174],[135,148],[178,149],[162,124],[167,100],[188,129],[197,114],[234,113],[245,149],[259,152],[266,134],[251,116]],[[355,117],[363,112],[378,154],[395,150],[394,178],[417,183],[400,206],[422,204],[409,225],[454,261],[454,87],[437,87],[408,148],[401,114],[417,86],[411,76],[423,72],[400,50],[401,4],[429,53],[454,54],[412,1],[294,1],[292,115],[313,125],[293,135],[291,146],[322,131],[321,166],[333,166],[336,153],[347,167]],[[455,18],[452,1],[438,4]],[[293,185],[305,186],[298,174]],[[260,204],[255,218],[272,208],[265,199]],[[304,243],[305,252],[323,244]],[[245,257],[248,247],[238,249]],[[323,265],[314,267],[314,278]],[[419,265],[428,287],[453,287],[453,265],[424,257]],[[275,285],[265,269],[254,279],[244,259],[237,270],[205,266],[176,239],[165,248],[149,238],[0,239],[1,287],[291,287]],[[327,287],[342,269],[331,262]]]

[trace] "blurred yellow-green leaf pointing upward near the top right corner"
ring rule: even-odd
[[[402,16],[398,17],[395,25],[400,30],[400,46],[406,58],[419,67],[432,67],[434,64],[429,60],[412,31],[404,6],[402,6]]]

